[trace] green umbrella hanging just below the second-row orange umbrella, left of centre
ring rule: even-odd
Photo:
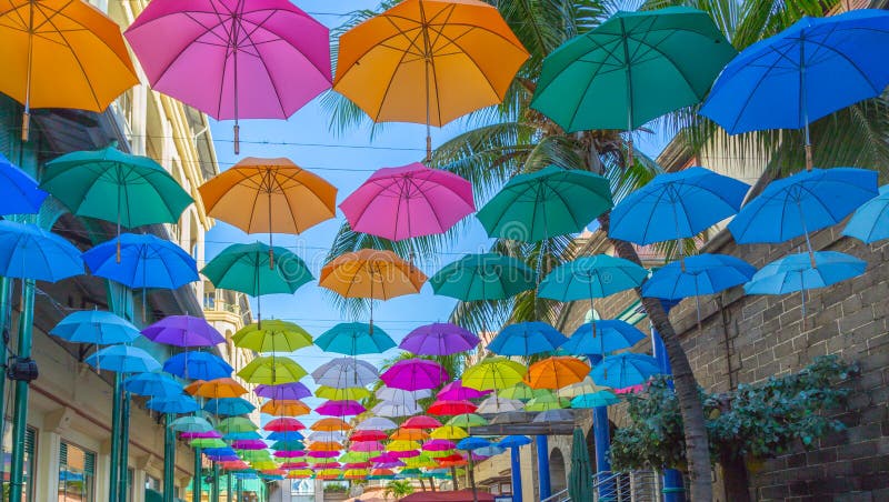
[[[276,259],[272,260],[274,250]],[[262,325],[259,299],[262,294],[293,293],[311,281],[312,273],[301,258],[284,248],[262,242],[231,244],[201,270],[214,287],[257,298],[258,325]]]

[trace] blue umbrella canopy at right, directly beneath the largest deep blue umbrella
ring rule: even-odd
[[[837,224],[877,197],[877,171],[813,169],[772,181],[729,223],[739,244],[785,242]]]

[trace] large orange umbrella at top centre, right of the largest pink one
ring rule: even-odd
[[[479,0],[404,0],[340,37],[333,89],[374,122],[441,127],[503,101],[528,51]]]

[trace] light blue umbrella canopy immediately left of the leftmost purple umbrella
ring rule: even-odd
[[[139,330],[129,321],[101,310],[72,312],[49,333],[72,343],[97,345],[129,343],[139,337]]]

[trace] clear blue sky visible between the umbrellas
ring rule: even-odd
[[[344,22],[351,10],[374,8],[376,0],[296,0],[294,3],[314,16],[328,27]],[[298,165],[308,169],[339,189],[337,201],[341,202],[357,189],[374,170],[383,167],[403,165],[419,161],[424,155],[426,131],[421,124],[386,124],[378,130],[371,141],[369,128],[338,134],[330,131],[330,118],[316,100],[298,111],[287,121],[249,120],[241,122],[241,152],[233,154],[232,122],[217,122],[211,127],[216,140],[220,170],[226,170],[243,157],[287,157]],[[432,130],[432,142],[440,142],[461,132],[459,121],[440,130]],[[267,144],[263,144],[267,143]],[[274,144],[289,143],[289,144]],[[643,140],[639,148],[647,153],[657,153],[661,140]],[[323,222],[300,235],[276,235],[276,245],[284,245],[296,251],[309,265],[317,278],[328,248],[337,230],[344,221],[338,211],[337,218]],[[267,241],[268,235],[247,235],[223,222],[217,222],[207,235],[207,259],[211,259],[227,245],[234,242]],[[441,265],[456,260],[467,252],[479,252],[487,248],[488,239],[481,225],[472,221],[453,248],[440,257],[437,263],[420,263],[420,268],[431,275]],[[251,302],[256,309],[256,302]],[[396,342],[411,329],[430,322],[447,320],[455,301],[436,297],[429,285],[418,295],[401,297],[374,305],[374,324],[386,330]],[[263,319],[284,319],[307,329],[314,337],[320,335],[333,324],[352,319],[343,317],[331,303],[326,290],[316,283],[302,287],[293,295],[267,295],[262,298]],[[367,319],[360,319],[367,321]],[[397,350],[381,355],[362,359],[379,363],[391,358]],[[317,348],[304,349],[296,358],[309,372],[330,359]],[[307,378],[308,384],[311,379]],[[309,401],[310,405],[317,404]]]

